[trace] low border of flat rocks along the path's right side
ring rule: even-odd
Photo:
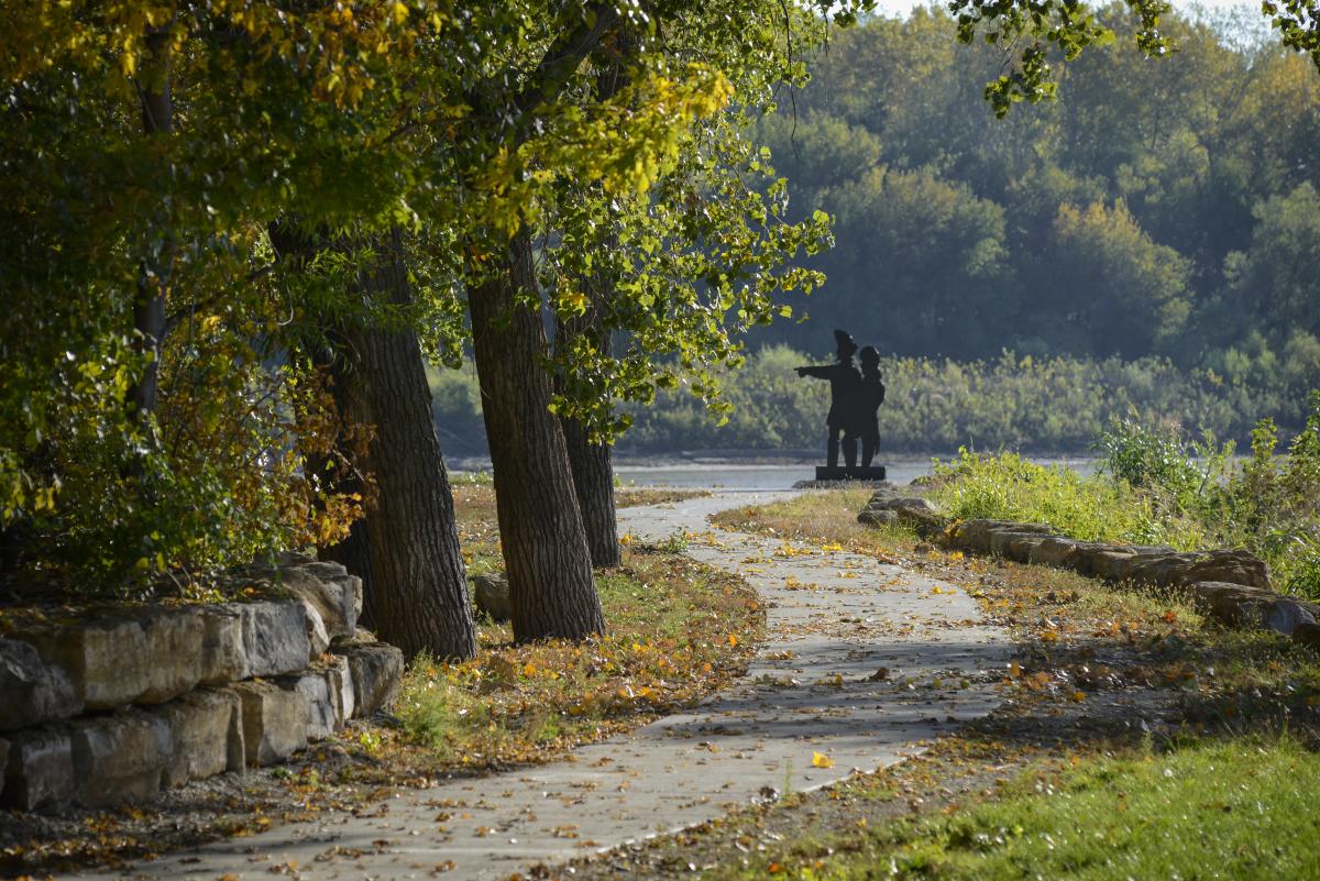
[[[1320,648],[1320,604],[1276,593],[1270,566],[1243,550],[1176,553],[1172,547],[1110,545],[1060,535],[1047,524],[968,520],[948,524],[924,499],[880,489],[858,514],[862,524],[908,521],[957,550],[1019,563],[1069,568],[1105,582],[1187,592],[1228,626],[1263,628]]]

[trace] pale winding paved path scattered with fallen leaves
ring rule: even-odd
[[[766,645],[727,692],[569,761],[407,790],[362,815],[172,853],[124,877],[556,877],[533,868],[874,770],[997,706],[993,686],[1011,645],[979,624],[960,588],[706,524],[772,497],[722,493],[619,512],[626,534],[686,542],[693,558],[738,572],[764,597]]]

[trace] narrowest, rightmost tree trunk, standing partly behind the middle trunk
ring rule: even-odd
[[[597,344],[609,351],[609,331],[594,327],[591,307],[578,320],[560,322],[554,330],[556,340],[570,335],[593,334]],[[561,382],[566,377],[560,377]],[[561,389],[562,390],[562,389]],[[569,466],[573,470],[573,489],[582,513],[582,529],[586,532],[586,546],[591,553],[591,566],[614,568],[622,562],[619,550],[619,525],[614,512],[614,467],[610,463],[610,444],[591,443],[586,427],[577,419],[562,418],[564,443],[568,446]]]

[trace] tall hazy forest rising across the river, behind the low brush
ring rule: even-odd
[[[1130,17],[1097,18],[1121,34]],[[1275,42],[1166,16],[1177,51],[1086,49],[1059,100],[995,119],[1003,53],[944,12],[837,34],[759,128],[800,212],[834,218],[803,324],[899,356],[1168,357],[1225,372],[1320,338],[1320,74]],[[1300,363],[1294,367],[1300,367]],[[1313,369],[1313,364],[1309,365]],[[1315,375],[1313,375],[1315,376]]]

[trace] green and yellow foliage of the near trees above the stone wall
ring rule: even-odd
[[[360,379],[342,331],[409,327],[457,363],[463,295],[519,235],[545,243],[536,310],[581,314],[565,280],[593,253],[627,281],[599,311],[619,353],[545,365],[576,381],[557,409],[610,435],[680,379],[719,406],[711,368],[820,284],[800,258],[829,240],[738,133],[854,11],[0,0],[0,579],[187,590],[342,535],[371,492],[371,427],[326,392]],[[371,290],[387,256],[408,305]]]

